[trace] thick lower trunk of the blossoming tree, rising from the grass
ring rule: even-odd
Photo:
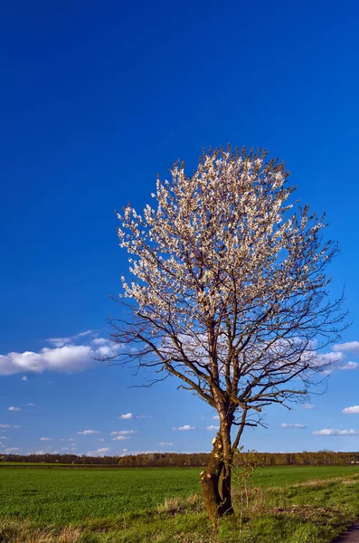
[[[231,514],[231,465],[223,460],[222,434],[213,440],[210,462],[201,473],[204,507],[214,522],[225,514]]]

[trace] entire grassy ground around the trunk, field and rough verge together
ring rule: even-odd
[[[258,469],[217,533],[197,469],[0,470],[3,543],[328,543],[359,516],[359,467]]]

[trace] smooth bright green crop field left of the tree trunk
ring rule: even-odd
[[[199,470],[2,468],[0,517],[39,526],[154,510],[199,490]]]

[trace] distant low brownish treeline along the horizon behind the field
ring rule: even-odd
[[[359,452],[255,452],[257,462],[262,466],[310,466],[345,465],[359,463]],[[249,456],[250,455],[250,456]],[[253,452],[241,452],[236,463],[251,462]],[[199,452],[184,454],[177,452],[149,452],[127,456],[77,456],[76,454],[4,454],[0,462],[59,463],[71,465],[92,465],[124,468],[199,468],[208,464],[210,454]]]

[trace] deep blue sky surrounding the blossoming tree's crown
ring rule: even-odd
[[[359,449],[359,414],[342,413],[359,405],[358,19],[354,2],[1,7],[0,450],[210,449],[207,405],[175,381],[128,388],[139,378],[91,356],[127,269],[113,210],[229,141],[285,159],[301,201],[326,211],[354,322],[315,408],[269,408],[243,445]]]

